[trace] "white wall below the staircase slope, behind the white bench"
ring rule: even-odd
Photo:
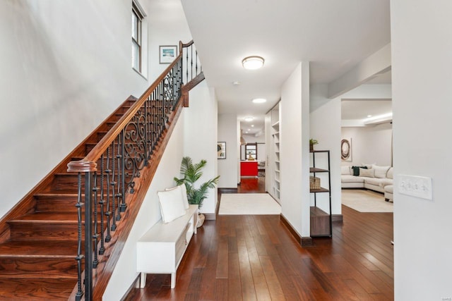
[[[119,297],[127,292],[138,276],[136,271],[136,242],[150,227],[160,220],[160,204],[157,192],[165,190],[165,188],[174,187],[173,178],[179,175],[180,162],[182,161],[182,156],[184,156],[185,114],[186,108],[182,110],[182,114],[179,116],[179,121],[177,121],[169,139],[167,148],[157,167],[138,216],[136,216],[135,223],[133,223],[129,238],[127,238],[102,300],[119,300]]]

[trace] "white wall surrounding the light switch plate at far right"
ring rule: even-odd
[[[452,2],[391,1],[396,300],[452,297]],[[432,178],[433,199],[398,192]]]

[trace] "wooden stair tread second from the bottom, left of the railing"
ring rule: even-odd
[[[2,257],[75,258],[76,240],[8,240],[0,245]],[[74,260],[75,261],[75,260]]]

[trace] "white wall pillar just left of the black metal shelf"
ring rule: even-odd
[[[283,83],[280,116],[281,211],[309,237],[309,63],[299,63]]]

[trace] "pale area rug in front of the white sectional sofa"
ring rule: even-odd
[[[385,202],[382,193],[370,190],[342,190],[342,204],[359,212],[393,212],[393,203]]]

